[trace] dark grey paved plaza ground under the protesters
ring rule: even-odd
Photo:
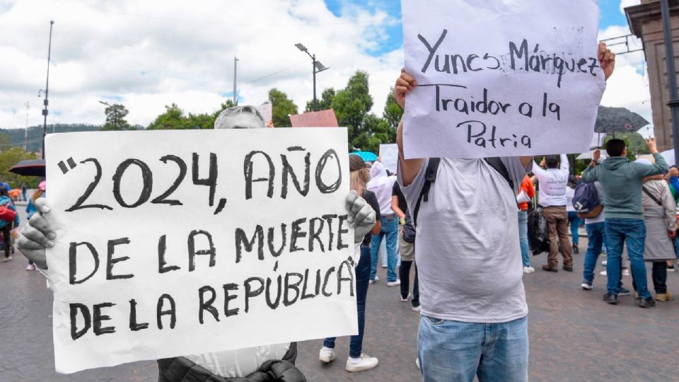
[[[542,254],[533,257],[538,270],[524,277],[530,308],[530,381],[677,381],[679,301],[642,309],[627,296],[620,298],[620,305],[610,306],[601,301],[605,277],[597,276],[593,291],[580,289],[584,250],[581,253],[574,255],[575,272],[539,270],[546,261]],[[52,293],[42,275],[26,272],[25,265],[18,253],[13,261],[0,263],[0,382],[157,380],[155,361],[56,374]],[[599,264],[597,275],[600,270]],[[380,269],[382,280],[384,273]],[[631,288],[631,277],[623,282]],[[668,286],[679,292],[679,272],[668,274]],[[328,365],[318,361],[321,340],[301,342],[298,367],[309,381],[421,380],[414,364],[418,322],[410,304],[399,301],[397,288],[378,282],[368,289],[364,352],[378,357],[379,366],[356,374],[344,371],[347,337],[338,339],[337,360]]]

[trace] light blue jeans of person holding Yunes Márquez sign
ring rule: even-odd
[[[417,346],[424,382],[528,381],[528,317],[484,324],[422,316]]]

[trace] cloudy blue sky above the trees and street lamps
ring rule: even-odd
[[[629,33],[622,7],[639,0],[599,2],[600,38]],[[213,112],[233,95],[234,56],[241,104],[276,87],[303,109],[311,59],[297,42],[331,67],[318,74],[319,96],[364,69],[381,115],[403,62],[399,0],[0,0],[0,127],[25,127],[27,111],[29,125],[42,124],[50,20],[48,123],[103,124],[100,100],[144,126],[170,103]],[[603,104],[651,120],[644,55],[617,65]]]

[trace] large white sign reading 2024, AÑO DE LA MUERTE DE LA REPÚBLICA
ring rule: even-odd
[[[46,144],[57,371],[358,332],[346,129]]]

